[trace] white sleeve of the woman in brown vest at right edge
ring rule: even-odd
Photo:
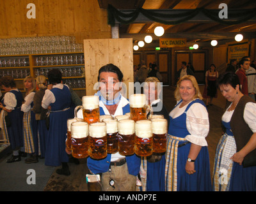
[[[244,107],[244,121],[253,133],[256,133],[256,103],[246,103]]]

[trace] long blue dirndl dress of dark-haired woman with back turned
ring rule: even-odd
[[[45,165],[60,166],[62,162],[68,162],[68,154],[65,151],[67,139],[67,120],[71,118],[71,94],[66,85],[63,89],[53,88],[56,101],[51,103],[49,115],[50,125],[46,138]]]

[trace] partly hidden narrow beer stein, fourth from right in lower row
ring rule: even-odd
[[[114,154],[118,152],[117,120],[103,119],[102,122],[106,122],[108,154]]]

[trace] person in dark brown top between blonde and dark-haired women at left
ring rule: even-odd
[[[42,107],[42,99],[44,98],[45,90],[47,89],[47,80],[44,75],[39,75],[36,77],[36,87],[38,91],[36,91],[34,99],[33,99],[33,112],[35,113],[35,119],[38,127],[38,135],[40,140],[40,152],[41,157],[45,157],[45,139],[47,136],[47,128],[46,128],[46,113],[47,109]]]

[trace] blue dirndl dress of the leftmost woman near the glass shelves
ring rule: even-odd
[[[12,126],[7,128],[8,138],[10,141],[10,145],[12,150],[15,150],[19,147],[23,147],[23,138],[22,138],[22,120],[23,120],[23,112],[20,110],[22,105],[23,96],[20,91],[11,90],[11,93],[15,95],[17,100],[17,105],[12,110],[12,112],[8,113]]]

